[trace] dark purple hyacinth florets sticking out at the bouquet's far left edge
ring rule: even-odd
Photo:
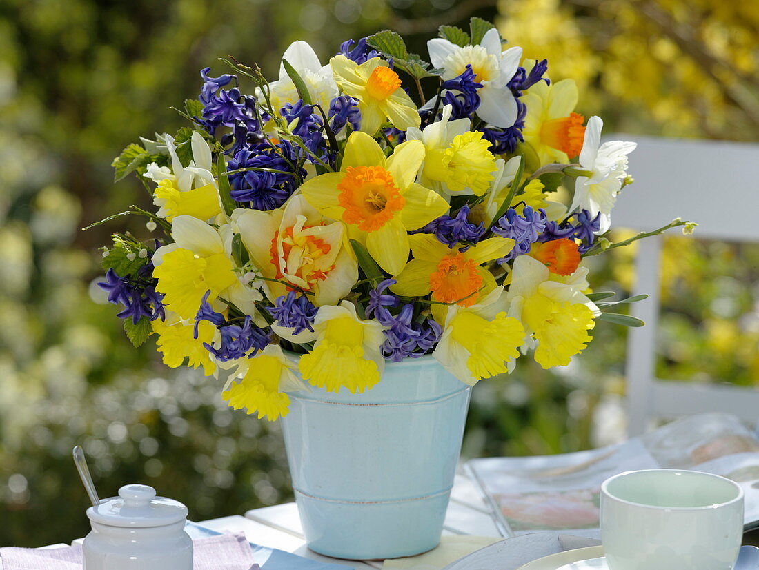
[[[163,307],[163,294],[156,291],[150,283],[149,276],[153,272],[153,263],[140,268],[137,279],[132,276],[121,277],[113,268],[106,272],[106,281],[99,282],[98,286],[108,291],[108,301],[113,304],[124,305],[124,309],[116,316],[120,319],[131,317],[135,325],[143,316],[150,320],[166,318]]]

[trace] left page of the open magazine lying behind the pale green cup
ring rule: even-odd
[[[600,485],[622,471],[657,468],[639,439],[565,455],[469,461],[502,534],[567,531],[599,537]]]

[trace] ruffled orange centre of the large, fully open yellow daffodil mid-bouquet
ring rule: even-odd
[[[343,221],[361,231],[382,228],[406,203],[390,172],[381,166],[348,166],[337,189],[345,208]]]

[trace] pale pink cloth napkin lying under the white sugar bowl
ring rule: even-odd
[[[193,540],[194,570],[260,570],[245,535],[219,534]],[[0,548],[2,570],[82,570],[82,547]]]

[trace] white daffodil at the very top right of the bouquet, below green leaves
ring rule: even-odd
[[[434,68],[443,69],[445,80],[458,77],[471,65],[477,83],[480,107],[477,116],[494,127],[508,128],[517,120],[517,102],[506,87],[519,67],[522,50],[512,47],[502,51],[498,30],[487,30],[478,46],[456,46],[447,39],[434,38],[427,42]]]

